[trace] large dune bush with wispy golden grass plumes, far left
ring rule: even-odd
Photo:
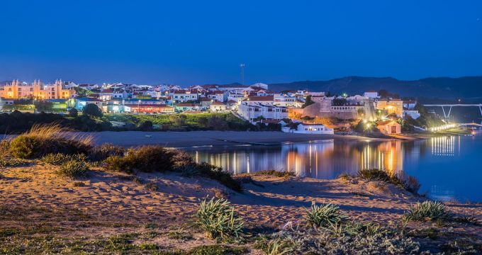
[[[21,159],[34,159],[50,153],[87,154],[92,137],[67,131],[60,125],[34,125],[28,132],[13,138],[11,153]]]

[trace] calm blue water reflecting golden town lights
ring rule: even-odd
[[[387,169],[415,176],[436,200],[482,201],[482,133],[417,141],[324,140],[279,146],[191,148],[197,162],[222,166],[232,173],[276,169],[298,176],[335,179],[360,169]]]

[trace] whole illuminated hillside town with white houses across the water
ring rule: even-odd
[[[76,84],[56,80],[33,83],[13,80],[0,86],[0,111],[29,113],[83,112],[98,108],[110,115],[172,115],[232,113],[252,125],[269,130],[310,134],[354,134],[378,132],[399,135],[403,131],[425,131],[430,123],[417,101],[405,100],[388,91],[366,91],[363,95],[331,95],[328,91],[272,91],[267,84],[175,85]],[[421,114],[426,113],[420,119]],[[430,116],[429,116],[430,117]],[[435,114],[432,113],[432,119]],[[111,125],[126,123],[111,118]],[[433,122],[433,121],[432,121]],[[152,124],[151,124],[152,125]],[[274,127],[274,128],[273,128]],[[162,125],[153,125],[162,129]]]

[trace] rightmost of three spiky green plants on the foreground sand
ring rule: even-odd
[[[408,212],[403,215],[407,220],[449,220],[452,214],[447,211],[445,205],[438,201],[424,201],[410,206]]]

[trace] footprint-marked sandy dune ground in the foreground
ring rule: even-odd
[[[395,225],[410,205],[426,200],[377,181],[254,175],[250,176],[254,182],[244,183],[244,192],[236,193],[201,177],[144,173],[132,179],[93,168],[89,178],[72,181],[57,176],[57,168],[39,163],[1,170],[1,231],[40,229],[35,230],[41,231],[37,236],[47,233],[73,240],[135,233],[134,244],[150,242],[165,249],[188,250],[200,244],[215,244],[202,232],[186,230],[206,196],[230,200],[247,227],[255,229],[279,229],[287,222],[301,220],[306,215],[304,208],[312,201],[339,205],[344,214],[362,222]],[[482,220],[481,206],[449,204],[448,208]],[[155,229],[146,227],[150,225]],[[410,222],[408,227],[418,229],[430,224]],[[193,237],[169,238],[173,231],[187,231]],[[456,225],[450,232],[482,239],[482,228],[473,225]],[[252,244],[244,246],[249,254],[263,254]]]

